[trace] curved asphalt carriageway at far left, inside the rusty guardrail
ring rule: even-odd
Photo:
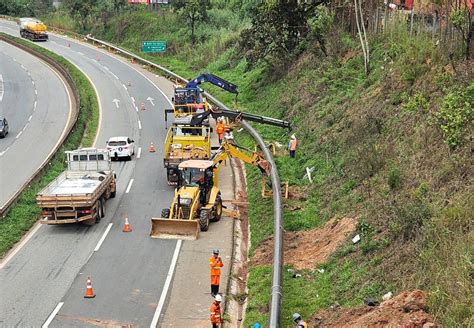
[[[9,134],[0,139],[0,207],[53,151],[70,107],[66,86],[56,72],[0,41],[0,116],[9,123]]]

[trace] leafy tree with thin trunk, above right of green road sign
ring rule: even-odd
[[[172,3],[190,25],[191,42],[195,44],[196,24],[208,20],[207,11],[211,8],[210,0],[176,0]]]

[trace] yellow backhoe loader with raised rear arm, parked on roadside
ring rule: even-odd
[[[170,208],[161,212],[161,218],[151,219],[152,238],[198,239],[199,231],[207,231],[209,222],[219,221],[222,215],[222,198],[219,189],[219,166],[228,157],[239,158],[257,166],[268,176],[270,163],[253,152],[242,152],[235,144],[226,141],[209,160],[187,160],[178,166],[178,187]]]

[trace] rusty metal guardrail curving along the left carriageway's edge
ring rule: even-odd
[[[6,38],[2,35],[0,35],[0,40],[7,42],[15,47],[18,47],[22,49],[23,51],[26,51],[33,56],[36,56],[46,62],[48,65],[52,66],[66,81],[67,87],[72,91],[72,111],[73,111],[73,117],[72,119],[68,122],[69,127],[67,132],[63,135],[61,140],[57,143],[56,147],[51,151],[51,153],[48,155],[48,157],[41,163],[40,167],[33,173],[33,175],[16,191],[16,193],[2,206],[0,207],[0,218],[5,217],[5,215],[8,213],[8,210],[11,208],[11,206],[15,203],[17,198],[20,196],[20,194],[36,179],[38,179],[45,171],[46,167],[50,163],[51,159],[54,157],[58,149],[64,144],[64,141],[69,137],[71,132],[73,131],[74,126],[76,125],[77,118],[79,116],[79,108],[80,108],[80,97],[79,93],[77,92],[76,85],[69,74],[69,72],[64,69],[60,64],[55,62],[53,59],[47,57],[46,55],[43,55],[42,53],[31,49],[27,46],[24,46],[22,44],[16,43],[13,40],[10,40],[9,38]]]

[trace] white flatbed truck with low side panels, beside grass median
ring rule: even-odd
[[[105,215],[105,202],[115,197],[115,173],[106,149],[66,151],[68,168],[36,196],[43,224],[83,222],[92,225]]]

